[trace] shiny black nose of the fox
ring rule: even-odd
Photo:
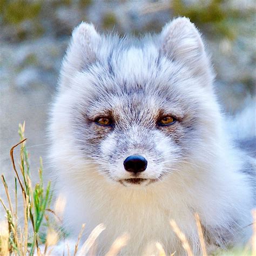
[[[147,160],[142,156],[130,156],[124,160],[124,169],[128,172],[143,172],[146,167]]]

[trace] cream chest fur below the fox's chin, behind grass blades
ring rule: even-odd
[[[159,242],[168,253],[174,251],[183,254],[179,238],[170,225],[170,220],[176,221],[186,237],[197,236],[193,214],[187,208],[177,211],[177,207],[161,205],[153,202],[127,203],[119,200],[108,204],[87,202],[84,205],[83,216],[79,216],[80,223],[86,223],[85,239],[98,224],[104,224],[105,230],[97,239],[99,255],[105,254],[114,240],[127,234],[129,240],[122,249],[125,255],[152,254],[157,252],[156,243]],[[77,204],[77,207],[82,206]],[[82,217],[82,218],[81,218]],[[71,218],[72,219],[72,218]],[[76,218],[77,220],[77,218]],[[192,220],[192,221],[191,221]]]

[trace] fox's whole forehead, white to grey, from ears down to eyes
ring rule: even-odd
[[[178,103],[177,97],[184,93],[185,88],[180,85],[186,80],[193,83],[187,73],[186,68],[166,59],[153,46],[132,46],[123,51],[105,52],[104,57],[80,72],[74,87],[79,94],[87,96],[89,105],[97,104],[98,109],[101,104],[103,110],[122,104],[126,104],[126,108],[144,104],[173,109]]]

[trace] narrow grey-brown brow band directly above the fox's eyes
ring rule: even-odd
[[[132,118],[139,120],[147,117],[156,119],[164,114],[183,118],[184,110],[169,97],[160,94],[152,95],[146,90],[133,87],[133,91],[124,91],[122,95],[102,91],[96,94],[92,102],[86,107],[86,115],[90,119],[99,116],[111,116],[114,119]]]

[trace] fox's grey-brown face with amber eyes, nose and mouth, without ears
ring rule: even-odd
[[[129,85],[117,92],[119,85],[112,83],[114,93],[93,89],[92,101],[84,101],[83,111],[74,117],[76,139],[84,157],[97,163],[107,179],[149,185],[183,158],[183,110],[170,107],[171,99],[160,92]]]

